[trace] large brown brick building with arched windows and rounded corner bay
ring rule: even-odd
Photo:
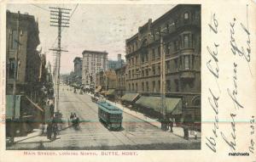
[[[182,115],[200,120],[201,5],[177,5],[126,40],[127,92],[160,95],[161,53],[166,55],[166,98],[181,98]]]

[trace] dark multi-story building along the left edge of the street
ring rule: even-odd
[[[15,54],[18,49],[17,24],[20,26],[20,51],[18,53],[16,94],[25,94],[33,101],[38,102],[38,93],[42,84],[41,59],[37,51],[39,41],[38,22],[29,14],[18,14],[7,11],[6,21],[6,94],[13,93],[15,79]]]

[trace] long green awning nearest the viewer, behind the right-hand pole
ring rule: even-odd
[[[182,114],[182,102],[181,98],[166,98],[166,114],[180,115]],[[154,109],[154,111],[163,113],[161,108],[161,98],[160,97],[141,97],[137,100],[137,104],[148,108]]]

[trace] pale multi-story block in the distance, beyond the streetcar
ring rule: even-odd
[[[82,62],[82,84],[85,87],[95,87],[96,73],[108,68],[108,53],[84,50]]]

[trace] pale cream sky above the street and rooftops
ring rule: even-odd
[[[37,5],[37,6],[35,6]],[[34,15],[38,20],[39,38],[46,59],[53,64],[54,56],[49,48],[57,46],[57,27],[49,26],[49,7],[73,9],[77,4],[9,4],[11,12]],[[125,59],[125,39],[135,35],[138,27],[158,19],[172,4],[79,4],[74,11],[70,27],[62,31],[61,74],[73,70],[73,59],[82,57],[86,50],[107,51],[108,59],[117,59],[121,53]],[[55,44],[54,44],[55,42]]]

